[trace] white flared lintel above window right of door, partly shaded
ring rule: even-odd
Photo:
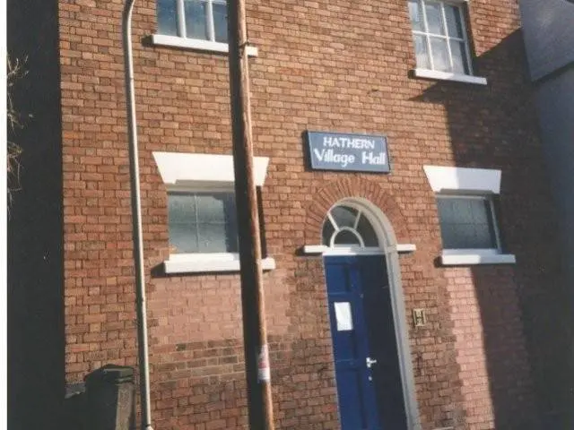
[[[493,168],[424,166],[434,193],[445,191],[500,194],[501,171]]]

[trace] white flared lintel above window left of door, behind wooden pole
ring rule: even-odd
[[[235,182],[233,157],[230,155],[153,152],[153,159],[166,185],[228,184]],[[255,184],[263,186],[268,157],[253,158]]]

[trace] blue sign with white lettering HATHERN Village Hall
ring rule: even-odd
[[[308,131],[307,142],[311,168],[377,173],[391,171],[385,136]]]

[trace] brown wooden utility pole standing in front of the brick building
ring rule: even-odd
[[[261,236],[253,178],[245,0],[228,0],[231,127],[239,226],[243,344],[248,383],[249,428],[273,430],[269,348],[265,329]]]

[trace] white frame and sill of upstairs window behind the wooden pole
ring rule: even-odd
[[[213,4],[227,4],[227,2],[225,0],[203,1],[205,2],[207,15],[207,22],[205,22],[207,28],[207,39],[187,38],[185,0],[176,0],[176,22],[178,35],[171,36],[159,33],[152,34],[152,44],[167,47],[183,47],[211,52],[229,52],[229,46],[227,43],[218,42],[215,40],[215,26],[213,23]],[[247,47],[247,51],[248,56],[257,56],[257,47]]]

